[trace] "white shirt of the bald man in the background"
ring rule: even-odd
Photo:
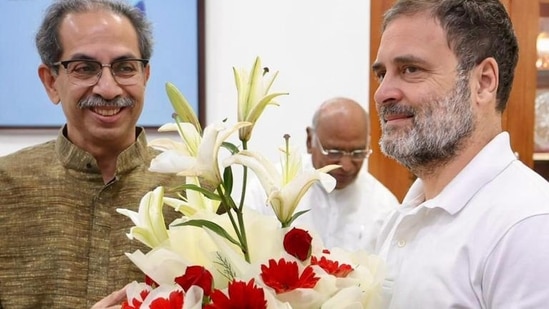
[[[304,168],[313,168],[310,156],[304,156],[303,162]],[[252,181],[246,191],[246,205],[274,216],[266,199],[259,181]],[[398,205],[391,191],[363,169],[354,182],[331,193],[315,183],[296,209],[296,212],[310,211],[294,221],[294,225],[312,229],[326,248],[373,252],[383,221]]]

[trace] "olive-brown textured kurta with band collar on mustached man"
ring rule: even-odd
[[[140,132],[140,133],[139,133]],[[177,177],[149,172],[156,152],[138,129],[103,183],[95,159],[60,134],[0,158],[0,302],[12,308],[89,308],[144,276],[124,255],[141,197]]]

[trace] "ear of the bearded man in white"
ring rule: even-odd
[[[499,67],[492,57],[484,59],[474,70],[476,102],[479,105],[495,104],[499,85]]]

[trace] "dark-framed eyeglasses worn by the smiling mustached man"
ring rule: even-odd
[[[69,76],[69,81],[78,86],[93,86],[99,82],[103,68],[111,69],[114,80],[119,85],[135,85],[141,79],[143,68],[147,66],[146,59],[121,59],[111,63],[101,63],[95,60],[67,60],[53,63],[62,65]]]

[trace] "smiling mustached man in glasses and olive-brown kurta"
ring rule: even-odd
[[[66,124],[56,140],[0,158],[0,308],[116,307],[119,289],[142,281],[125,256],[142,246],[116,208],[137,210],[146,192],[178,183],[148,171],[157,153],[136,127],[152,41],[126,2],[46,10],[38,75]]]

